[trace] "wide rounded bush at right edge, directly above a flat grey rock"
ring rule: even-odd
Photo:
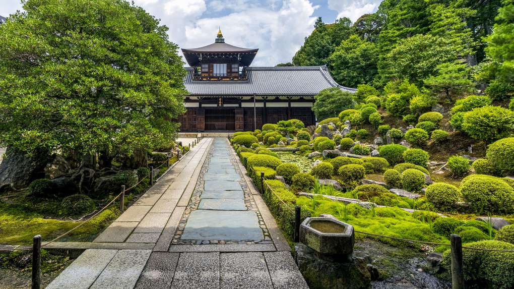
[[[514,189],[502,178],[469,175],[461,182],[461,194],[478,213],[514,212]]]

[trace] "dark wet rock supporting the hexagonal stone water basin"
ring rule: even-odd
[[[360,289],[371,286],[369,256],[354,252],[347,262],[322,260],[316,251],[302,243],[295,245],[295,261],[309,288]]]

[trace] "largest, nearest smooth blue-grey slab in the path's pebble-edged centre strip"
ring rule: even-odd
[[[192,211],[181,240],[264,240],[254,211]]]

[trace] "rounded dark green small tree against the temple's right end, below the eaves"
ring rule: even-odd
[[[318,119],[337,117],[341,111],[353,109],[355,106],[353,94],[343,92],[339,87],[323,89],[314,96],[314,100],[312,110]]]

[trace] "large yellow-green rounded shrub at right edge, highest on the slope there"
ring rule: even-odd
[[[501,106],[476,108],[464,114],[462,130],[486,142],[508,137],[514,130],[514,112]]]

